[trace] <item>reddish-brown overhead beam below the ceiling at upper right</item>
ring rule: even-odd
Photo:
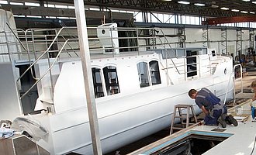
[[[256,16],[248,15],[248,16],[236,16],[236,17],[209,18],[209,19],[206,19],[206,21],[202,21],[202,24],[217,25],[217,24],[234,23],[234,22],[256,22]]]

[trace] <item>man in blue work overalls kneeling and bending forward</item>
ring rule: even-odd
[[[226,105],[220,101],[220,98],[216,97],[209,89],[202,88],[200,91],[191,89],[189,91],[189,97],[195,99],[196,105],[202,109],[202,112],[206,115],[204,123],[206,125],[219,125],[226,128],[227,123],[237,126],[237,120],[232,115],[227,115]]]

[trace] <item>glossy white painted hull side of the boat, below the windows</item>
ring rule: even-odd
[[[192,104],[196,113],[201,112],[188,96],[190,88],[209,88],[222,99],[229,88],[228,98],[233,98],[232,84],[227,87],[228,77],[203,77],[106,101],[96,99],[102,152],[116,150],[170,126],[174,105]],[[57,112],[50,115],[49,121],[54,147],[47,147],[51,153],[93,154],[85,106]]]

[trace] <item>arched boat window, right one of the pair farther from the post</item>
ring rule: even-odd
[[[161,84],[158,62],[156,60],[150,61],[150,75],[151,75],[152,85]]]

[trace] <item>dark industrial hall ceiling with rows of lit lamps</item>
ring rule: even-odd
[[[180,4],[180,1],[189,2],[189,4]],[[43,7],[46,4],[74,5],[73,0],[8,0],[6,2],[8,2],[8,4],[1,4],[1,8],[5,10],[11,10],[16,15],[49,15],[74,17],[74,9]],[[39,3],[40,7],[11,5],[12,2],[19,2],[24,4],[25,2],[34,2]],[[199,15],[202,18],[232,18],[239,16],[250,16],[250,22],[256,22],[256,0],[85,0],[84,2],[85,8],[97,7],[101,10],[123,9],[151,13],[165,12],[175,15]],[[203,4],[204,6],[195,5],[198,3]],[[102,12],[93,12],[91,14],[92,16],[86,15],[86,17],[90,19],[93,18],[93,16],[97,16],[99,14],[101,15]],[[120,14],[117,15],[118,13],[115,14],[116,19],[126,19],[128,17],[130,18],[130,15],[126,17]],[[106,16],[108,17],[109,15]],[[213,23],[215,22],[216,21]],[[207,24],[207,22],[205,22],[205,24]]]

